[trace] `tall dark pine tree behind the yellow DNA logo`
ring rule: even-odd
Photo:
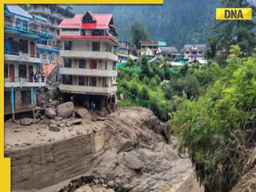
[[[239,7],[253,9],[255,15],[255,6],[249,5],[245,0],[221,0],[224,7]],[[212,27],[214,32],[213,37],[208,39],[206,56],[209,59],[215,57],[217,51],[220,51],[221,56],[227,58],[231,45],[239,45],[242,55],[248,56],[255,52],[256,36],[253,32],[255,28],[254,21],[216,21]]]

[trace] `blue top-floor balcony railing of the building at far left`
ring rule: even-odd
[[[31,24],[31,23],[29,23]],[[46,29],[40,29],[38,27],[32,27],[29,26],[28,23],[23,23],[23,22],[19,22],[19,21],[13,21],[10,19],[5,19],[5,26],[6,27],[13,27],[15,29],[19,29],[21,31],[28,31],[31,33],[37,33],[39,35],[48,35],[47,34],[47,30]]]

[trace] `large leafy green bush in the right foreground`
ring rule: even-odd
[[[255,146],[256,55],[240,58],[239,46],[199,99],[179,98],[171,127],[181,137],[205,191],[229,191],[248,169]]]

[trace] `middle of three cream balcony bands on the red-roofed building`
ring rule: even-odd
[[[96,77],[117,77],[117,71],[114,70],[103,70],[103,69],[80,69],[80,68],[59,68],[61,75],[85,75],[85,76],[96,76]]]

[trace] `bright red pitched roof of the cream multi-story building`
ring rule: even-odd
[[[90,14],[95,18],[95,23],[82,23],[82,17],[84,15],[77,14],[73,18],[63,19],[59,23],[59,28],[76,28],[76,29],[109,29],[109,23],[113,17],[112,14]]]

